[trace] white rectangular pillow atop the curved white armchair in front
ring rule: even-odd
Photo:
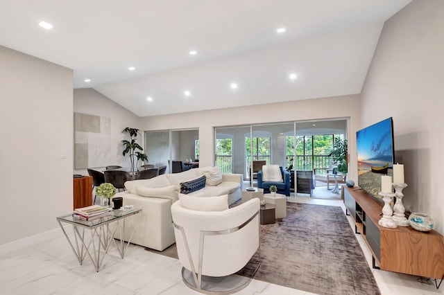
[[[180,206],[194,211],[224,211],[228,210],[228,195],[217,197],[196,197],[179,194]]]

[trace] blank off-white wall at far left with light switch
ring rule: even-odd
[[[72,77],[0,46],[0,244],[56,229],[72,211]]]

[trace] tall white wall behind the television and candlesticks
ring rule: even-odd
[[[402,202],[444,233],[444,1],[412,1],[391,17],[361,93],[365,127],[390,116],[395,161],[404,164]]]

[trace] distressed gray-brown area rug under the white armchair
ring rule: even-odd
[[[153,252],[177,259],[176,244]],[[380,294],[339,207],[287,203],[286,218],[261,226],[260,257],[257,280],[316,294]],[[248,276],[257,258],[239,273]]]

